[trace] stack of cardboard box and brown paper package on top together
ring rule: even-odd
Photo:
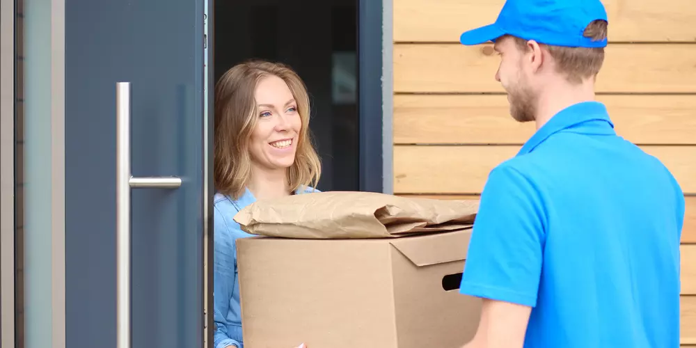
[[[322,192],[237,221],[244,347],[459,348],[480,300],[459,294],[477,200]]]

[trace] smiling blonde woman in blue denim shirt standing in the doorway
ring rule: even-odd
[[[315,191],[308,126],[306,87],[285,65],[239,64],[215,86],[214,348],[244,348],[235,240],[250,235],[233,218],[257,199]]]

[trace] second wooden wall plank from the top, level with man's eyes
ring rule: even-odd
[[[695,57],[696,45],[609,45],[596,91],[696,93]],[[394,90],[397,93],[505,93],[493,78],[499,63],[500,57],[489,44],[394,45]]]

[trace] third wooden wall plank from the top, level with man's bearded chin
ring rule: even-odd
[[[694,82],[696,84],[696,81]],[[694,95],[599,95],[617,134],[640,145],[696,143]],[[509,116],[505,95],[395,95],[395,144],[521,145],[533,122]]]

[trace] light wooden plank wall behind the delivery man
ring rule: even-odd
[[[615,129],[661,159],[686,193],[681,344],[696,348],[696,2],[603,0],[599,100]],[[464,47],[504,0],[393,0],[394,192],[470,198],[534,132],[508,113],[491,45]]]

